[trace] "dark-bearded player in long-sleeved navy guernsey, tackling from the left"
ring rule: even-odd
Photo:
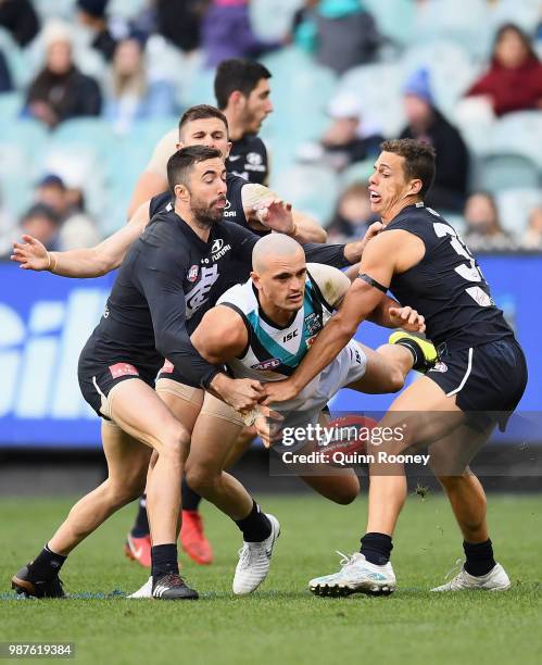
[[[148,475],[152,593],[160,599],[198,597],[178,575],[175,544],[179,484],[191,427],[181,425],[159,398],[154,379],[167,357],[184,388],[203,386],[239,412],[261,399],[257,381],[231,379],[201,357],[187,328],[196,327],[224,291],[220,274],[227,274],[232,258],[244,258],[250,264],[259,236],[220,222],[226,170],[219,150],[185,148],[169,159],[167,171],[175,205],[159,212],[131,246],[105,313],[79,360],[83,394],[105,423],[102,438],[109,478],[72,509],[36,560],[13,577],[17,592],[63,594],[58,573],[67,554],[142,491],[154,449],[157,461]],[[283,206],[283,214],[277,214],[279,226],[291,224],[288,212]],[[342,267],[358,260],[360,252],[348,258],[358,244],[305,244],[304,249],[316,261]],[[255,503],[236,522],[248,542],[265,542],[267,548],[278,536],[278,522],[261,513]]]

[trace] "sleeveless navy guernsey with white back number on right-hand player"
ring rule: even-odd
[[[385,231],[396,229],[420,238],[426,253],[417,265],[393,275],[390,291],[425,316],[426,335],[434,344],[467,349],[514,335],[453,226],[418,203],[404,208]]]

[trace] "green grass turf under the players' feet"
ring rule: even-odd
[[[198,602],[128,601],[147,573],[124,559],[134,506],[113,516],[70,557],[62,574],[71,600],[15,600],[9,580],[36,555],[67,513],[66,499],[1,499],[0,640],[72,641],[80,663],[528,663],[542,662],[542,501],[491,497],[489,519],[506,593],[431,594],[461,556],[461,538],[441,495],[412,495],[394,539],[399,590],[389,598],[310,594],[311,577],[338,569],[333,550],[357,549],[366,503],[319,497],[267,497],[282,535],[266,582],[235,598],[240,547],[235,525],[204,504],[215,563],[182,556]],[[94,595],[96,594],[96,595]]]

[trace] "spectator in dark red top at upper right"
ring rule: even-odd
[[[497,116],[542,109],[542,64],[519,27],[507,23],[500,28],[490,68],[467,96],[486,98]]]

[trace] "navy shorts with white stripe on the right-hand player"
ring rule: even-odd
[[[504,431],[527,386],[527,361],[514,337],[455,350],[439,347],[440,361],[427,376],[457,406],[469,414],[477,429],[497,422]]]

